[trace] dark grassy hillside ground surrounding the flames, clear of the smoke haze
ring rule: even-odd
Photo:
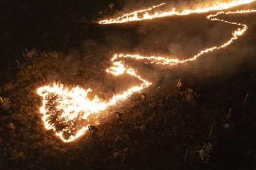
[[[6,63],[0,68],[1,170],[256,168],[255,54],[246,53],[240,63],[229,65],[232,71],[209,76],[179,65],[161,68],[164,76],[145,91],[146,101],[134,94],[123,102],[118,108],[122,120],[113,117],[98,125],[97,141],[87,132],[63,143],[43,126],[37,88],[57,81],[93,87],[92,97],[109,99],[126,79],[105,72],[109,58],[118,50],[139,50],[134,38],[139,24],[101,27],[93,22],[122,10],[120,0],[0,3],[5,7],[0,59]],[[248,43],[254,47],[255,23],[250,26]],[[132,43],[110,44],[109,36]]]

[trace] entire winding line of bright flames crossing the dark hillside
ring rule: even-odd
[[[110,24],[110,23],[124,23],[131,21],[138,21],[143,19],[152,19],[156,17],[166,17],[172,15],[189,15],[192,13],[205,13],[213,10],[223,10],[230,7],[234,7],[241,4],[251,3],[255,0],[233,0],[228,3],[217,3],[213,6],[208,6],[205,8],[197,8],[193,10],[183,10],[176,11],[172,9],[170,12],[155,12],[153,15],[149,15],[147,12],[152,11],[155,8],[158,8],[165,3],[153,6],[148,9],[135,11],[133,13],[125,14],[121,17],[114,19],[102,20],[99,23],[101,24]],[[142,56],[139,54],[115,54],[112,58],[112,67],[108,68],[106,71],[113,76],[118,76],[122,74],[129,74],[136,77],[141,84],[133,86],[128,90],[114,95],[109,101],[104,101],[99,99],[98,96],[95,96],[93,99],[88,98],[88,93],[92,92],[89,89],[83,89],[79,86],[69,88],[64,87],[62,84],[53,83],[52,85],[45,85],[39,87],[37,92],[43,98],[42,106],[40,107],[40,113],[43,114],[42,120],[44,126],[48,130],[53,130],[57,136],[64,142],[71,142],[77,139],[79,136],[82,136],[87,130],[87,125],[90,123],[98,124],[98,119],[104,117],[104,112],[121,101],[125,101],[132,94],[141,92],[144,88],[152,85],[152,82],[149,82],[146,79],[143,79],[134,68],[129,67],[125,64],[124,59],[131,58],[134,60],[148,60],[151,63],[157,65],[168,65],[175,66],[180,63],[190,62],[196,60],[198,57],[202,56],[211,51],[222,49],[230,45],[234,40],[239,36],[242,36],[248,29],[247,25],[230,22],[227,20],[219,19],[219,15],[228,15],[228,14],[244,14],[244,13],[253,13],[256,10],[238,10],[238,11],[229,11],[224,12],[220,11],[216,14],[210,14],[207,16],[208,19],[212,21],[220,21],[233,25],[237,25],[237,28],[233,33],[232,37],[223,43],[220,46],[214,46],[202,51],[199,51],[196,55],[189,59],[179,60],[177,58],[170,58],[166,56]],[[142,17],[138,17],[139,13],[144,13]],[[86,126],[85,126],[86,125]]]

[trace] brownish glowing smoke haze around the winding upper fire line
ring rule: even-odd
[[[143,7],[158,4],[158,2],[162,1],[126,0],[124,11],[143,9]],[[180,9],[193,8],[198,4],[203,6],[209,3],[212,2],[210,0],[179,0],[168,2],[166,8],[170,6]],[[164,17],[128,24],[100,26],[96,28],[96,32],[100,32],[100,38],[83,40],[79,49],[69,52],[70,59],[64,62],[63,67],[72,73],[72,76],[77,77],[74,84],[86,88],[91,87],[93,95],[98,94],[107,100],[114,93],[139,84],[139,81],[131,76],[113,77],[106,73],[106,68],[112,64],[110,58],[115,53],[137,53],[144,56],[157,55],[187,59],[205,48],[223,44],[237,28],[234,25],[208,20],[206,16],[206,14],[200,14]],[[238,20],[237,15],[223,16],[223,18],[249,24],[248,33],[228,48],[204,54],[196,61],[179,64],[175,67],[163,68],[151,64],[149,61],[128,59],[125,62],[133,66],[143,78],[157,84],[164,82],[162,85],[165,86],[174,85],[177,79],[183,76],[193,75],[205,78],[233,74],[240,62],[254,56],[252,44],[255,40],[250,34],[255,35],[255,33],[252,31],[253,29],[250,31],[250,28],[255,28],[256,23],[253,15],[238,17]],[[247,41],[248,39],[249,41]],[[163,79],[164,81],[162,81]]]

